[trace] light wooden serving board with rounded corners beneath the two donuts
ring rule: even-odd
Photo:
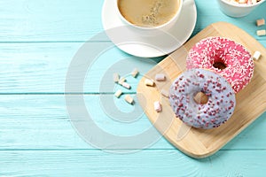
[[[237,95],[237,105],[231,119],[220,127],[204,130],[191,128],[183,139],[178,139],[177,134],[183,122],[176,118],[172,111],[168,98],[160,96],[160,90],[168,90],[172,81],[185,71],[187,51],[201,39],[208,36],[223,36],[239,42],[247,50],[254,53],[259,50],[262,57],[254,61],[254,77],[252,81]],[[156,87],[145,86],[145,78],[152,78],[156,73],[165,73],[167,81],[156,82]],[[163,59],[139,82],[137,96],[139,103],[144,109],[147,117],[164,137],[168,139],[177,149],[183,151],[192,158],[206,158],[220,150],[233,137],[239,135],[255,119],[257,119],[266,108],[266,50],[261,43],[239,27],[226,22],[214,23],[195,35],[183,47]],[[155,112],[153,103],[160,100],[162,112]]]

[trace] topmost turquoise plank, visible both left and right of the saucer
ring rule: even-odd
[[[0,42],[59,42],[87,41],[103,31],[101,1],[70,0],[11,0],[0,2]],[[16,4],[16,5],[14,5]],[[196,0],[198,22],[193,35],[216,21],[228,21],[255,35],[255,20],[264,18],[262,4],[243,19],[227,17],[216,1]],[[263,15],[264,14],[264,15]],[[265,38],[263,38],[265,40]]]

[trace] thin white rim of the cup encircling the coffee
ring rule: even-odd
[[[115,0],[115,8],[116,8],[116,12],[118,13],[118,15],[120,16],[120,18],[126,22],[129,26],[131,27],[136,27],[138,29],[142,29],[142,30],[152,30],[152,29],[160,29],[161,27],[166,27],[168,26],[168,24],[172,23],[174,20],[176,20],[176,18],[178,18],[181,10],[182,10],[182,6],[183,6],[183,2],[184,0],[178,0],[179,1],[179,6],[178,6],[178,9],[175,13],[175,15],[169,19],[166,23],[163,23],[161,24],[160,26],[155,26],[155,27],[141,27],[141,26],[137,26],[133,23],[130,23],[126,18],[124,18],[124,16],[121,14],[120,10],[119,10],[119,7],[118,7],[118,1],[119,0]]]

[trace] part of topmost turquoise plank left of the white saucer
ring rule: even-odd
[[[1,1],[1,42],[87,41],[102,31],[102,1]]]

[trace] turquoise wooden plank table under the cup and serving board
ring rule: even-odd
[[[103,3],[0,1],[0,176],[265,176],[265,113],[222,150],[203,159],[185,156],[164,138],[145,149],[120,154],[101,150],[78,135],[66,109],[66,73],[85,42],[95,49],[112,43],[91,40],[103,32]],[[216,1],[196,0],[196,4],[198,19],[192,36],[211,23],[228,21],[266,46],[266,36],[255,34],[266,28],[255,26],[256,19],[266,19],[266,4],[241,19],[225,16]],[[143,72],[162,59],[132,59],[113,47],[90,65],[83,93],[74,95],[84,96],[98,127],[109,134],[132,136],[151,127],[145,114],[134,122],[113,120],[100,98],[113,96],[114,90],[99,89],[106,71],[125,58]],[[111,87],[108,84],[104,87]],[[129,94],[134,96],[136,88],[137,82]],[[121,101],[115,104],[110,106],[123,112],[133,109]]]

